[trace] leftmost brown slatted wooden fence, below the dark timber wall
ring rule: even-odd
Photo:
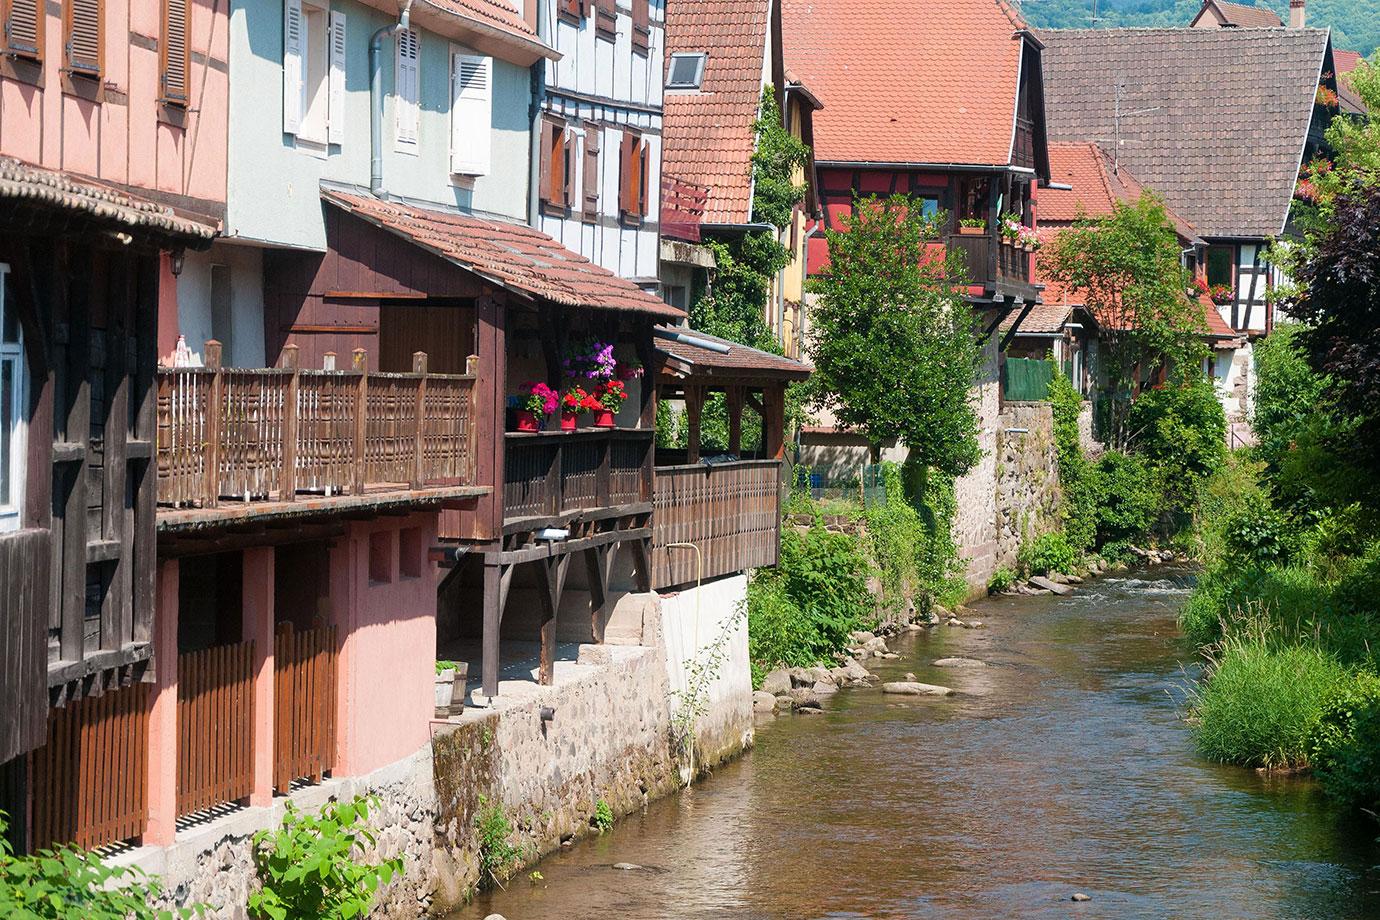
[[[149,684],[54,709],[48,743],[29,754],[30,848],[91,848],[148,823]]]

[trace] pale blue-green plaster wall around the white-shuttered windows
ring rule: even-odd
[[[232,0],[230,157],[226,233],[282,246],[326,248],[320,182],[368,185],[368,40],[395,22],[352,0],[345,14],[345,138],[326,148],[283,132],[283,4]],[[489,175],[450,174],[450,39],[421,36],[421,126],[414,153],[395,143],[395,44],[384,41],[384,185],[397,196],[526,219],[531,121],[529,69],[494,59],[491,167]]]

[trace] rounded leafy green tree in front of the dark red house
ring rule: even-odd
[[[810,314],[817,400],[880,447],[909,448],[907,492],[918,474],[967,472],[981,455],[969,396],[981,366],[978,327],[962,298],[962,268],[937,255],[941,215],[905,196],[865,199],[827,230],[829,268]]]

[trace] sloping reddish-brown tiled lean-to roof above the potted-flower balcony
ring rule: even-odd
[[[322,197],[509,291],[564,306],[684,316],[632,281],[520,223],[484,221],[458,211],[384,201],[339,189],[322,189]]]

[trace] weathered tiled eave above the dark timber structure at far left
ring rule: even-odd
[[[193,244],[210,243],[219,230],[211,218],[178,214],[130,192],[10,157],[0,157],[0,203],[4,210],[55,208],[115,230],[181,237]]]

